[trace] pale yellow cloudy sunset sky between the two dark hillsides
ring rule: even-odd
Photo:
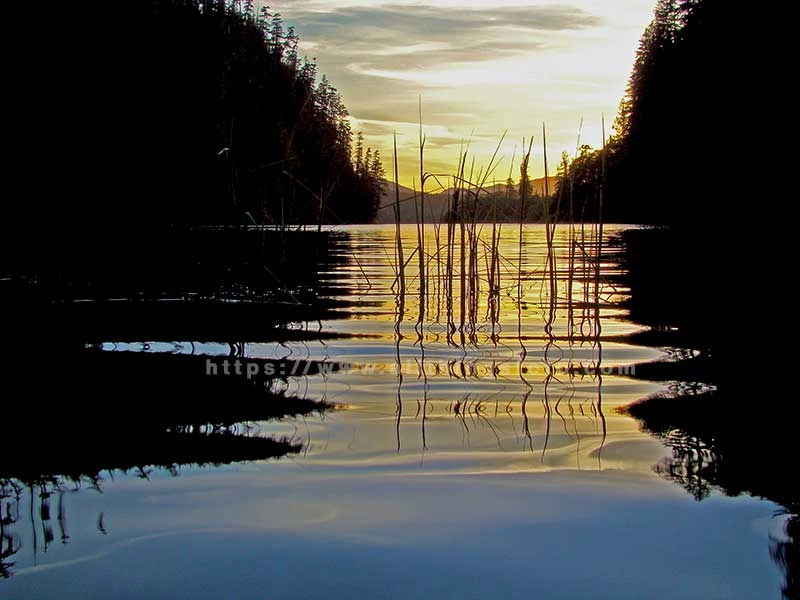
[[[654,0],[293,0],[271,2],[342,93],[353,129],[378,147],[390,175],[398,134],[400,182],[419,172],[418,103],[427,171],[451,173],[463,142],[486,164],[508,130],[498,180],[534,135],[532,175],[544,173],[542,123],[554,169],[562,150],[599,146],[611,129]],[[427,189],[427,188],[426,188]]]

